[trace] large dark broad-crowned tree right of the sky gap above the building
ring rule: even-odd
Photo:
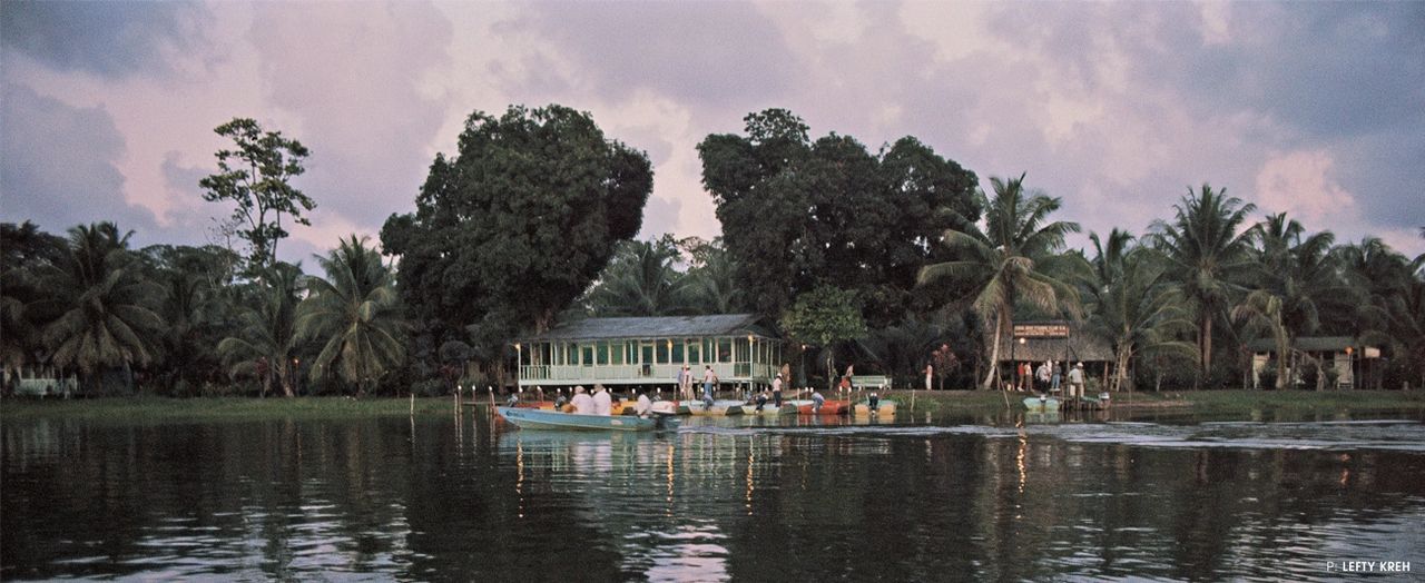
[[[787,110],[745,123],[698,153],[752,308],[778,315],[819,285],[854,289],[876,326],[926,308],[911,294],[916,271],[942,231],[979,218],[975,174],[912,137],[872,154],[846,135],[809,141]]]

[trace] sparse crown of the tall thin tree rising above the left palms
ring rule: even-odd
[[[235,150],[218,150],[219,172],[198,185],[205,190],[202,200],[237,207],[232,222],[239,225],[237,235],[249,245],[248,264],[255,271],[276,261],[276,244],[288,235],[284,215],[311,225],[302,212],[316,208],[316,202],[291,184],[305,171],[302,160],[311,153],[299,141],[282,137],[281,131],[264,131],[245,117],[214,131],[231,138]]]

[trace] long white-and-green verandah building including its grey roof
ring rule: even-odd
[[[520,341],[520,385],[671,385],[684,365],[724,383],[768,383],[782,341],[751,314],[589,318]]]

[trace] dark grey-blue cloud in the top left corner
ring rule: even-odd
[[[7,1],[0,40],[56,70],[108,78],[162,74],[202,46],[211,14],[178,1]]]

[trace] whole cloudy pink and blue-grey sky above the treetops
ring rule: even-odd
[[[1023,172],[1084,234],[1208,182],[1425,252],[1425,1],[6,1],[0,86],[0,221],[137,245],[217,241],[198,180],[234,117],[311,148],[279,247],[311,264],[412,211],[473,111],[557,103],[648,154],[641,238],[721,234],[695,147],[782,107]]]

